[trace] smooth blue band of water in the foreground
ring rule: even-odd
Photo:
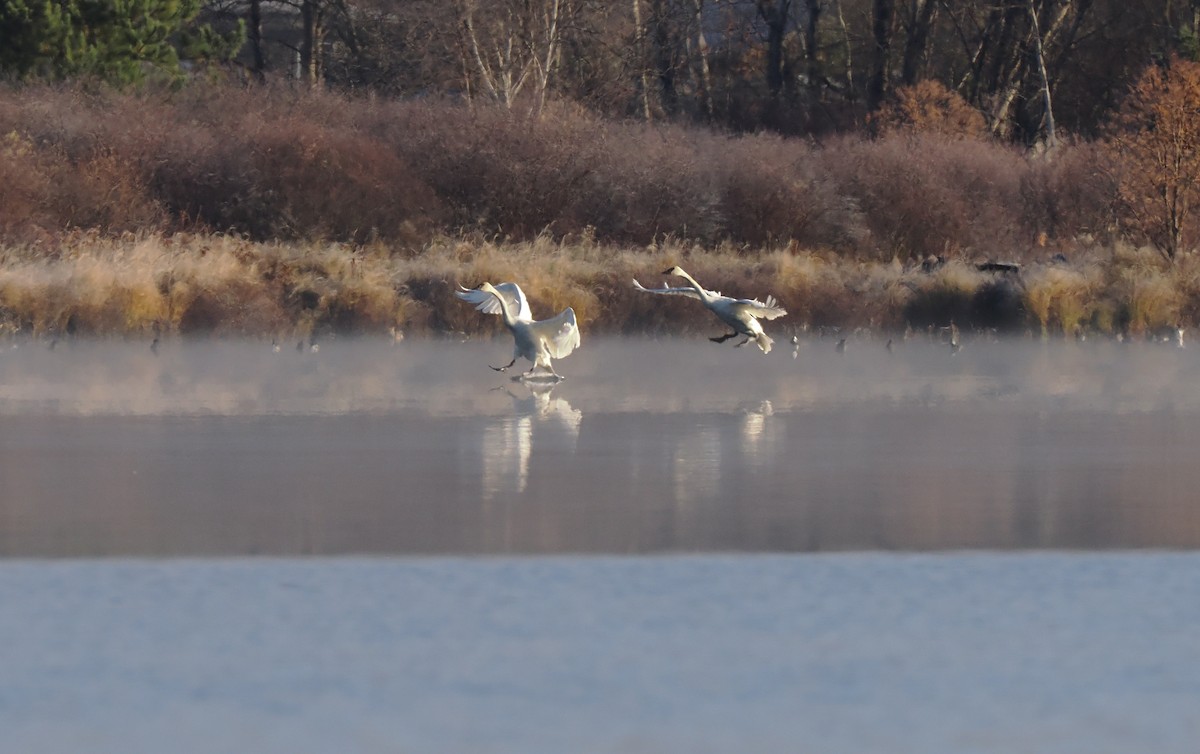
[[[1200,555],[0,562],[5,752],[1195,752]]]

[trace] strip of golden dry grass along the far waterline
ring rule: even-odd
[[[1045,335],[1140,336],[1200,319],[1200,263],[1150,250],[1093,249],[1019,274],[964,261],[854,261],[796,247],[749,252],[587,237],[522,243],[437,238],[416,252],[383,245],[259,244],[224,235],[79,235],[53,247],[0,249],[0,333],[52,337],[215,334],[290,337],[398,331],[438,336],[499,329],[455,286],[516,281],[536,317],[572,306],[589,333],[708,333],[695,301],[638,294],[680,264],[710,288],[776,297],[768,330],[900,331],[944,325]]]

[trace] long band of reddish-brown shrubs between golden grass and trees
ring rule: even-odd
[[[932,131],[937,131],[932,128]],[[14,136],[8,136],[14,134]],[[511,240],[828,250],[881,261],[1019,255],[1112,226],[1090,148],[1026,161],[895,132],[823,146],[604,121],[551,106],[386,102],[286,88],[0,89],[0,234],[210,231],[416,253],[439,232]]]

